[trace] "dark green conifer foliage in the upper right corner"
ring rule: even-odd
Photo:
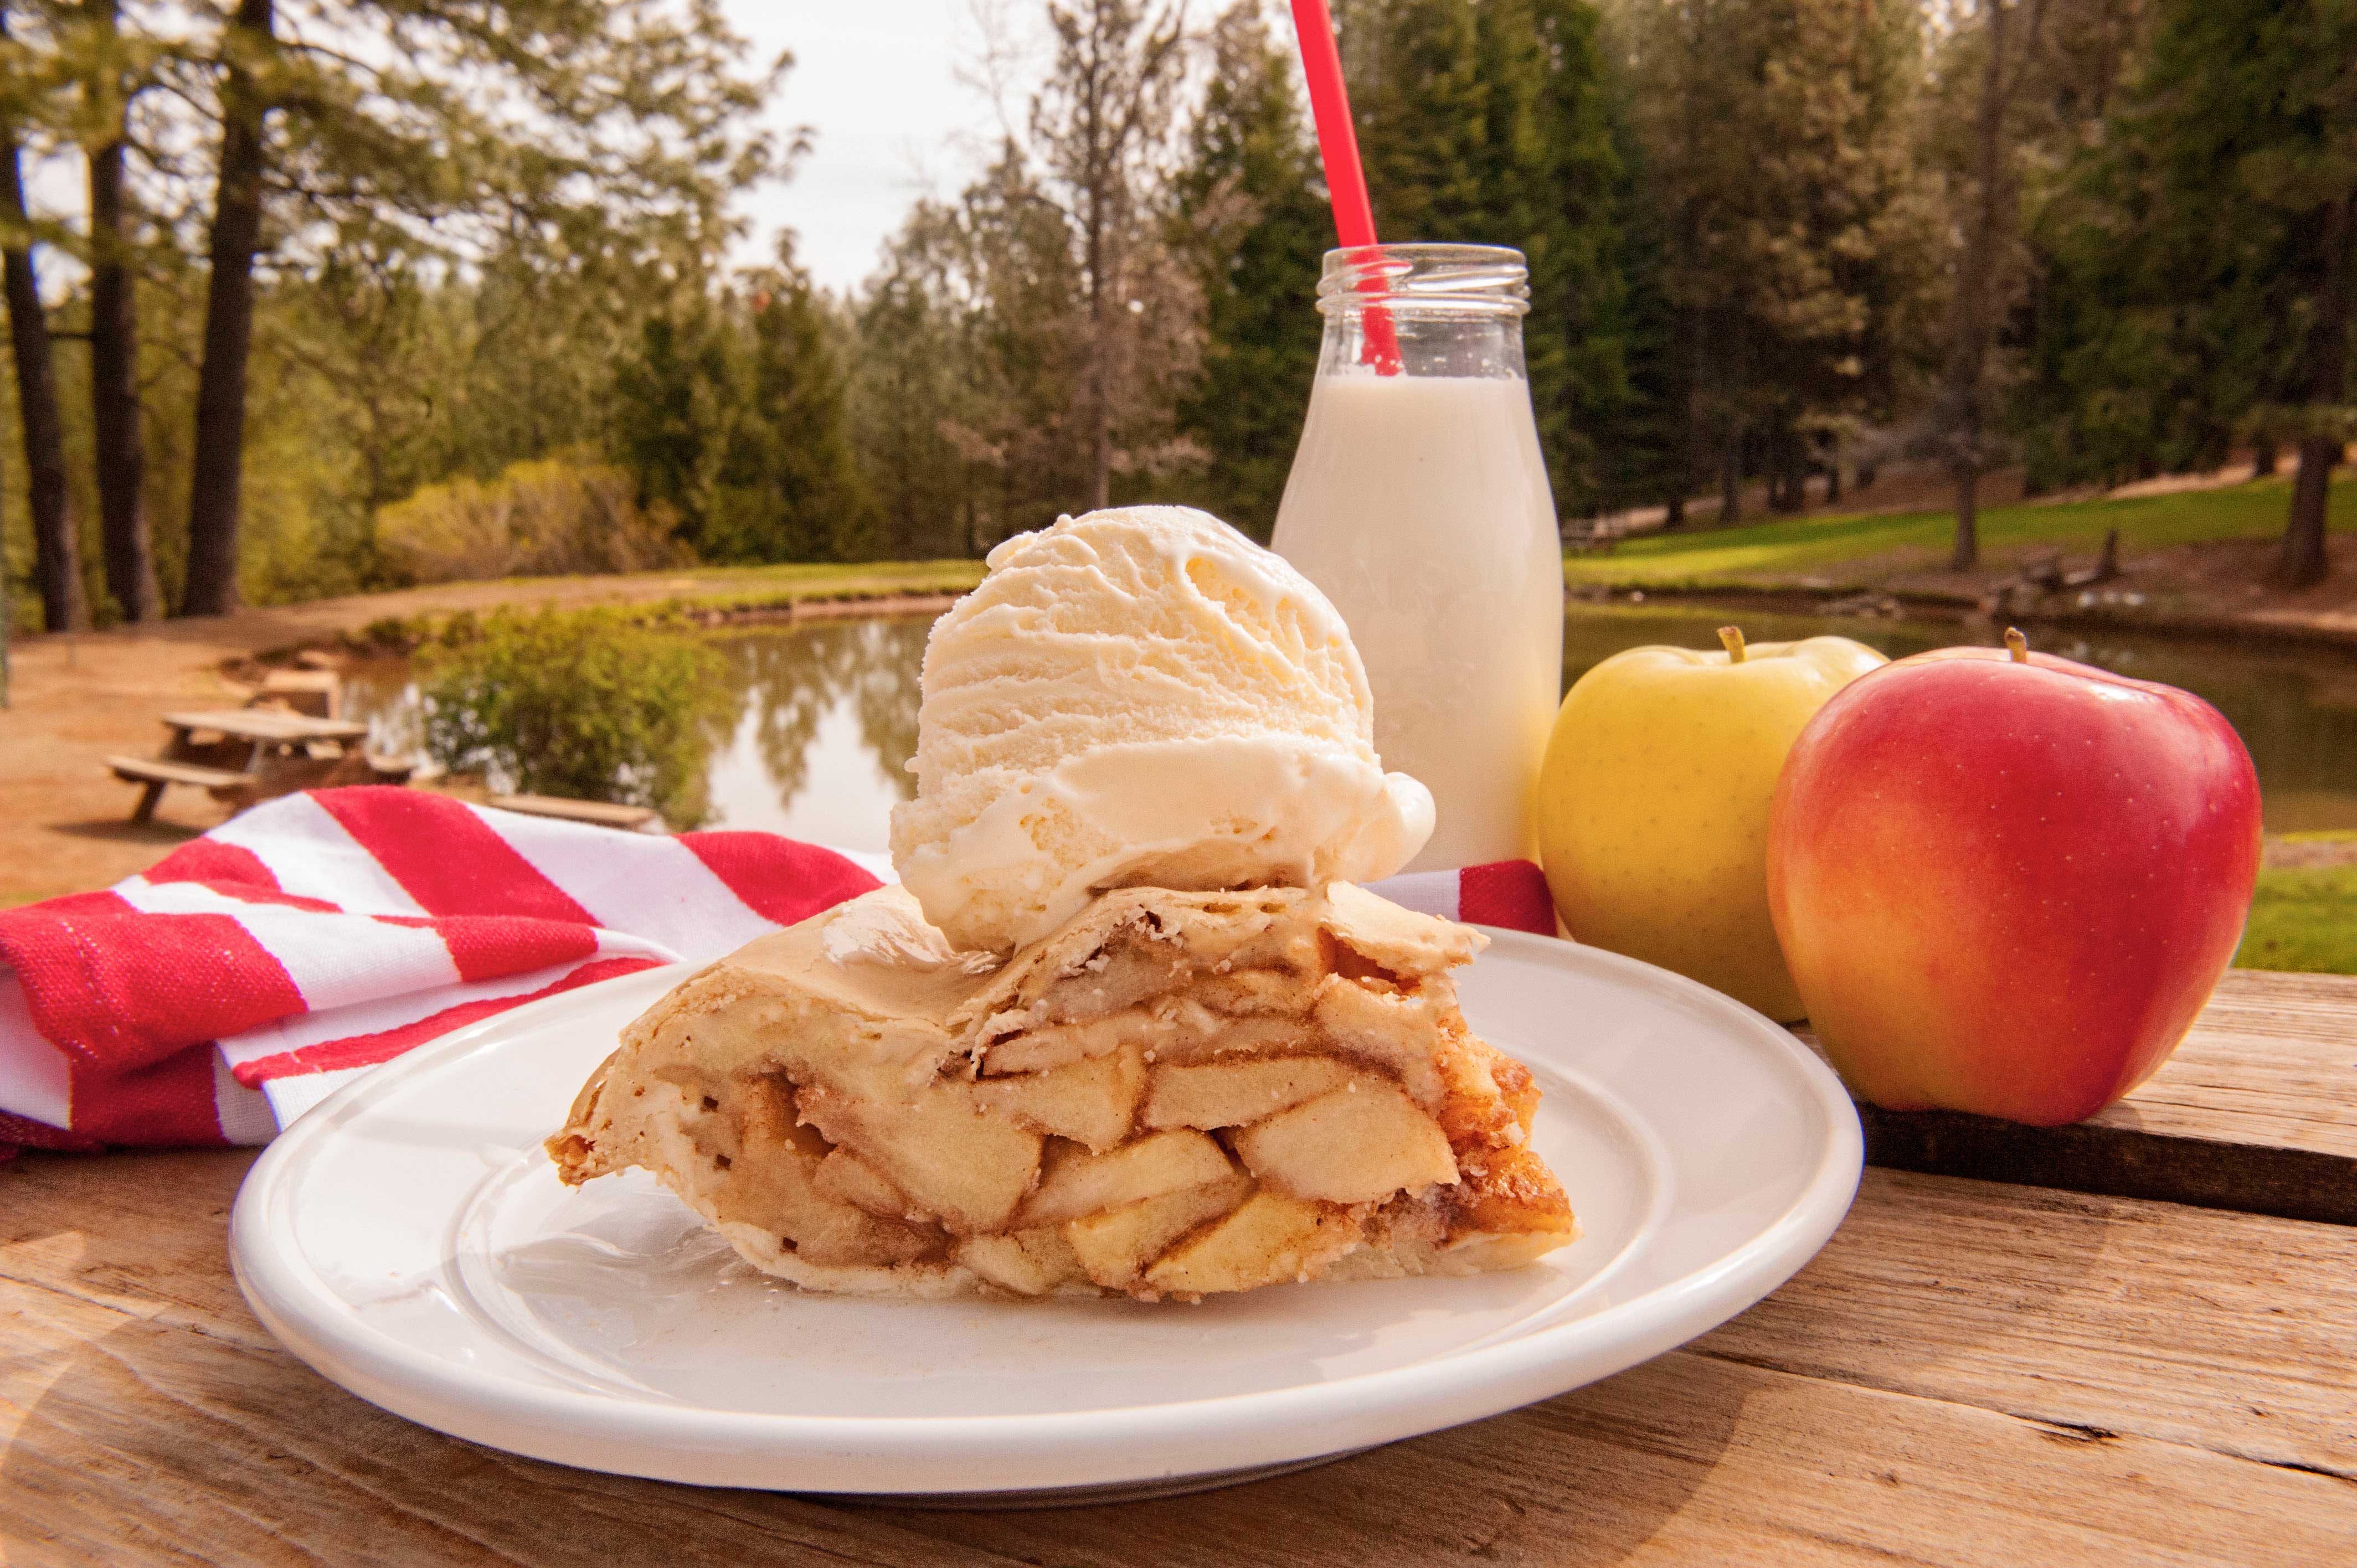
[[[2107,134],[2041,215],[2018,401],[2036,483],[2216,465],[2237,436],[2284,439],[2300,403],[2343,396],[2317,389],[2345,387],[2348,337],[2317,328],[2333,281],[2324,217],[2357,193],[2357,7],[2157,12]],[[2338,266],[2345,299],[2345,245]],[[2275,429],[2253,429],[2270,406]]]

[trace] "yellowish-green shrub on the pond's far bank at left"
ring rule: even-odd
[[[377,514],[387,571],[408,582],[655,571],[691,556],[606,465],[516,462],[490,483],[424,486]]]

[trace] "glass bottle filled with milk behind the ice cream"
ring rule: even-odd
[[[1409,870],[1537,856],[1563,696],[1563,547],[1501,245],[1329,250],[1325,349],[1275,549],[1341,611],[1374,747],[1440,825]]]

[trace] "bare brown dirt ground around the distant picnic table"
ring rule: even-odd
[[[200,790],[165,790],[156,821],[134,825],[134,785],[106,757],[153,757],[160,714],[240,707],[252,691],[224,667],[302,646],[330,646],[384,615],[495,604],[660,601],[707,589],[698,578],[556,578],[462,582],[358,599],[238,611],[153,627],[26,637],[9,646],[9,707],[0,712],[0,908],[82,894],[146,870],[174,844],[229,818]],[[794,618],[945,608],[943,597],[797,604]]]

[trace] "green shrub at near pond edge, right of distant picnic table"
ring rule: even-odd
[[[705,644],[608,611],[453,618],[422,653],[427,750],[495,788],[705,818],[705,726],[728,707]]]

